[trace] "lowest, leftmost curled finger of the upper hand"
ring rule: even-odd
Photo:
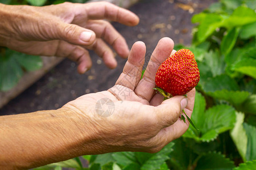
[[[77,71],[80,74],[85,73],[85,71],[92,66],[92,60],[90,59],[88,50],[78,45],[69,44],[65,41],[59,42],[54,56],[67,57],[72,61],[77,62],[79,64]]]

